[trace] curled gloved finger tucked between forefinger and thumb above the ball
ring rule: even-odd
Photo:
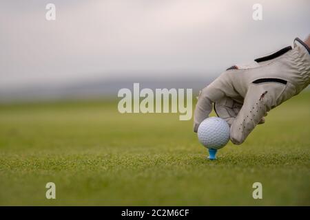
[[[242,108],[242,104],[225,96],[215,102],[214,111],[218,117],[223,118],[230,126]]]

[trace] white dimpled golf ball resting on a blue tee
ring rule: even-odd
[[[222,118],[207,118],[198,127],[198,140],[207,148],[223,148],[229,141],[229,136],[229,125]]]

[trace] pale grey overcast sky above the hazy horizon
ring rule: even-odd
[[[56,21],[45,5],[56,5]],[[262,4],[262,21],[252,5]],[[310,34],[309,0],[0,1],[0,87],[216,76]]]

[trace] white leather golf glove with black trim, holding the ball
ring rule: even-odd
[[[200,92],[194,112],[194,132],[209,117],[213,103],[230,125],[230,139],[241,144],[267,111],[296,96],[310,83],[310,49],[296,38],[293,47],[234,65]]]

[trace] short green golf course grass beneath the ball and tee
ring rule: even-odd
[[[274,109],[216,161],[178,114],[121,114],[114,101],[2,105],[0,205],[309,206],[309,100]]]

